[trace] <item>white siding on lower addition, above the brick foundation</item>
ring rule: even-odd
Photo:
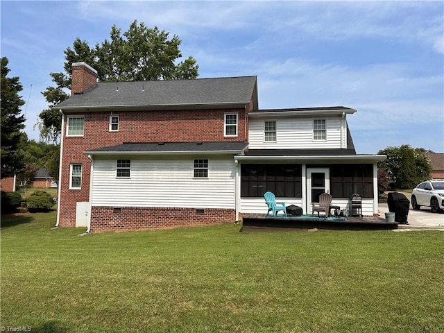
[[[232,156],[209,157],[209,177],[194,178],[194,157],[131,157],[131,178],[116,178],[116,160],[94,159],[95,206],[234,208]]]

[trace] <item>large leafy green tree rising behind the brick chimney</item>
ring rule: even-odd
[[[181,43],[177,35],[169,38],[169,33],[160,31],[157,26],[148,28],[137,21],[130,24],[128,31],[124,33],[113,25],[110,40],[105,39],[94,47],[76,38],[72,49],[68,47],[65,50],[65,72],[50,74],[56,87],[48,87],[42,92],[49,108],[39,115],[37,126],[40,128],[40,136],[50,142],[56,142],[60,136],[61,115],[51,107],[69,97],[66,90],[71,88],[73,62],[83,61],[94,67],[101,81],[196,78],[196,59],[189,56],[178,61],[182,58],[179,49]]]

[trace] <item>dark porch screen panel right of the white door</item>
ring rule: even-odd
[[[350,198],[359,194],[373,198],[373,164],[337,164],[331,168],[333,198]]]

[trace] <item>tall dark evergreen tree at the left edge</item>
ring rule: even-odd
[[[7,77],[8,62],[8,58],[1,58],[1,178],[13,176],[24,167],[16,153],[26,120],[21,109],[25,101],[19,96],[23,87],[18,76]]]

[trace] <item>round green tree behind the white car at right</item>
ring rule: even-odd
[[[393,180],[394,189],[411,189],[430,177],[432,167],[424,148],[412,148],[404,144],[400,147],[387,147],[378,154],[387,155],[378,162],[380,169],[386,169]]]

